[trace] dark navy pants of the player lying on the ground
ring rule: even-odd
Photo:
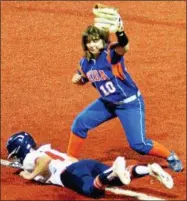
[[[81,160],[73,163],[62,173],[61,180],[65,187],[83,195],[99,198],[104,195],[104,190],[94,187],[93,181],[102,174],[109,166],[95,160]],[[118,178],[108,182],[110,186],[123,185]]]

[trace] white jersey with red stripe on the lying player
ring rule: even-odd
[[[53,158],[49,163],[49,172],[51,175],[49,178],[38,175],[34,180],[41,183],[64,186],[60,179],[60,175],[66,167],[72,164],[72,161],[68,159],[68,156],[65,153],[52,149],[50,144],[43,145],[37,150],[28,153],[23,161],[23,169],[32,172],[35,169],[36,159],[44,155]]]

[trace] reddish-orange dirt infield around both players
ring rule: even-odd
[[[1,157],[6,140],[25,130],[37,142],[66,151],[71,124],[98,97],[90,84],[71,83],[82,56],[81,34],[93,21],[86,1],[1,1]],[[175,187],[165,189],[149,177],[127,188],[167,200],[186,200],[186,2],[110,2],[120,8],[130,39],[128,71],[146,103],[147,136],[175,150],[182,173],[170,172]],[[114,38],[114,36],[111,36]],[[90,131],[82,158],[112,164],[165,161],[140,156],[127,144],[118,120]],[[133,200],[107,193],[103,200]],[[1,167],[1,200],[90,200],[71,190],[43,186]]]

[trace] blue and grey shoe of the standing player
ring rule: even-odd
[[[181,172],[183,170],[182,162],[179,160],[178,156],[174,151],[171,152],[170,156],[167,158],[169,167],[175,172]]]

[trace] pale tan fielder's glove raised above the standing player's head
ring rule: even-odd
[[[108,29],[111,33],[123,31],[123,22],[116,8],[96,4],[93,8],[93,13],[95,15],[94,25],[96,27]]]

